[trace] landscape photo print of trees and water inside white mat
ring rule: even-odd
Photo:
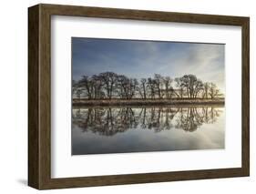
[[[225,148],[225,45],[72,37],[72,155]]]

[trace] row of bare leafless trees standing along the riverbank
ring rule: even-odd
[[[155,74],[148,78],[130,78],[114,72],[104,72],[91,77],[83,76],[72,81],[73,97],[87,99],[171,99],[223,97],[212,82],[203,82],[195,75],[163,77]]]

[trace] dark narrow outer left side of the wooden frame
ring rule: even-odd
[[[28,185],[39,186],[38,55],[39,6],[28,13]]]

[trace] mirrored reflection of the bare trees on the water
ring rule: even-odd
[[[73,109],[73,124],[83,131],[113,136],[128,129],[195,131],[220,117],[218,107],[88,107]]]

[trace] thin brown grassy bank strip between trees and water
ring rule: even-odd
[[[172,98],[172,99],[97,99],[88,100],[86,98],[73,98],[73,106],[168,106],[168,105],[220,105],[224,106],[225,98],[215,99],[189,99],[189,98]]]

